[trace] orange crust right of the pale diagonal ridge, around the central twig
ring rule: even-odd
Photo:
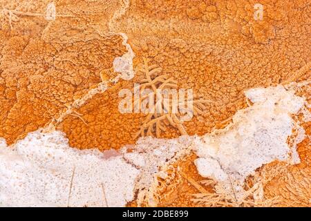
[[[243,108],[243,90],[286,81],[308,63],[307,10],[299,10],[304,4],[267,1],[263,21],[254,21],[254,3],[247,1],[131,1],[114,26],[129,37],[134,66],[148,57],[150,64],[162,68],[162,75],[177,81],[178,88],[192,88],[196,97],[211,100],[202,115],[185,122],[189,135],[203,135]],[[301,73],[307,74],[308,69]],[[136,73],[120,88],[133,90],[143,78]],[[77,117],[64,122],[72,144],[107,149],[135,142],[143,118],[117,110],[119,91],[117,86],[90,100],[90,125]],[[120,133],[117,128],[122,128]],[[178,135],[168,128],[160,137]]]

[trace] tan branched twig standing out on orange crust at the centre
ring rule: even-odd
[[[189,99],[184,102],[173,102],[171,99],[162,98],[162,94],[160,94],[161,90],[164,89],[176,89],[177,81],[173,79],[173,77],[169,77],[168,75],[159,75],[162,72],[162,68],[159,68],[155,64],[149,66],[149,59],[143,58],[144,63],[142,66],[137,68],[137,71],[144,73],[145,79],[140,81],[140,91],[144,89],[150,89],[153,93],[153,100],[156,100],[157,97],[161,97],[160,100],[157,100],[156,104],[149,109],[149,113],[147,114],[146,119],[140,126],[140,130],[135,134],[135,139],[140,136],[151,136],[153,133],[156,133],[156,137],[160,137],[161,131],[165,131],[165,126],[173,126],[177,128],[181,135],[187,135],[187,131],[185,127],[182,125],[182,121],[180,117],[182,114],[191,113],[192,115],[202,115],[203,110],[205,109],[205,103],[210,102],[206,99],[198,99],[193,101],[192,107],[180,107],[180,104],[185,104],[185,102],[189,102]],[[145,99],[149,98],[149,94],[141,95],[140,99],[135,99],[133,102],[133,106],[137,106],[142,104]],[[173,110],[173,106],[178,105],[179,112],[170,113]],[[158,108],[162,110],[162,113],[157,113]],[[164,125],[163,125],[164,124]]]

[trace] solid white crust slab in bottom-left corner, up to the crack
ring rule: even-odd
[[[0,142],[0,205],[124,206],[138,173],[121,155],[79,151],[62,132],[36,131],[15,146]]]

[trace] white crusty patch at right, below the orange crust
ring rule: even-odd
[[[294,90],[253,88],[245,95],[254,104],[238,111],[226,128],[200,137],[196,144],[200,175],[229,184],[230,189],[233,185],[236,192],[263,164],[274,160],[299,163],[296,144],[304,138],[303,128],[291,115],[299,113],[305,99],[294,95]],[[293,131],[296,138],[288,144]]]

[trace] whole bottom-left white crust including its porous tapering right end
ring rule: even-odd
[[[135,191],[153,186],[187,139],[144,137],[131,147],[82,151],[61,131],[35,131],[12,146],[0,138],[0,206],[126,206]]]

